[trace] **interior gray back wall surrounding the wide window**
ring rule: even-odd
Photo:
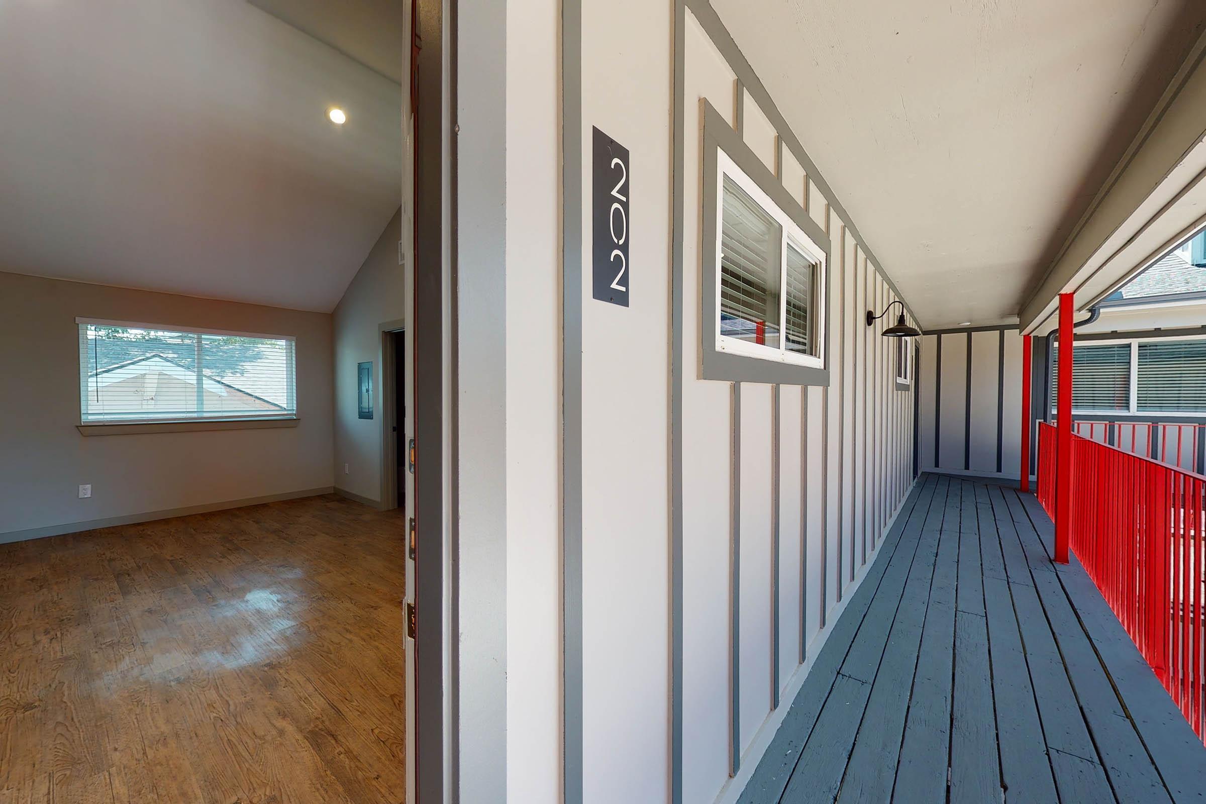
[[[294,335],[300,422],[83,436],[77,316]],[[0,272],[0,541],[41,535],[30,529],[329,489],[330,344],[327,313]],[[78,499],[80,483],[92,483],[90,499]]]

